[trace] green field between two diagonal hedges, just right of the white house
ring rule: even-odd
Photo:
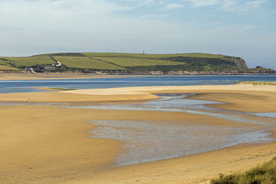
[[[87,69],[103,69],[103,70],[126,70],[117,65],[90,59],[89,57],[55,57],[55,59],[70,68],[87,68]]]

